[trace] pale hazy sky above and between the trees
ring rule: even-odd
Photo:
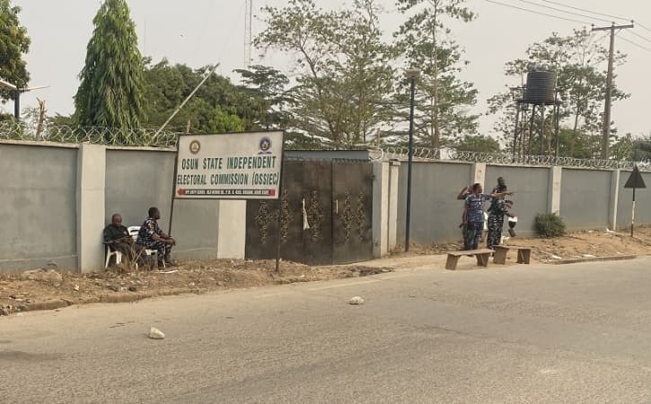
[[[154,62],[166,57],[172,63],[184,63],[192,67],[219,63],[217,73],[237,75],[233,69],[244,66],[244,14],[246,0],[128,0],[131,18],[136,22],[139,48],[144,56],[153,57]],[[387,39],[395,31],[404,16],[397,12],[395,0],[378,0],[386,13],[382,28]],[[620,31],[615,48],[628,55],[624,66],[617,66],[617,83],[621,90],[630,93],[630,98],[618,101],[612,107],[612,119],[620,134],[634,136],[651,132],[651,123],[646,119],[651,105],[651,80],[648,66],[651,66],[651,2],[646,0],[467,0],[466,5],[478,18],[470,23],[453,23],[453,37],[465,49],[465,58],[471,64],[462,71],[461,78],[475,84],[479,90],[478,105],[471,110],[483,114],[486,100],[505,90],[508,80],[504,75],[507,61],[524,57],[524,52],[534,42],[540,42],[553,31],[567,36],[573,29],[588,23],[608,26],[614,19],[561,7],[566,4],[591,12],[611,14],[625,20],[614,20],[618,24],[635,20],[642,24],[632,30]],[[100,0],[13,0],[22,8],[20,22],[31,37],[31,48],[25,59],[31,73],[31,86],[48,85],[46,89],[27,92],[22,95],[22,107],[36,107],[36,98],[46,101],[48,115],[68,115],[73,112],[73,96],[79,85],[78,75],[84,66],[85,48],[92,34],[92,18],[100,7]],[[264,29],[260,7],[263,5],[283,6],[285,0],[253,0],[253,35]],[[344,1],[317,0],[324,8],[337,8]],[[348,0],[348,3],[349,0]],[[536,6],[534,4],[540,4]],[[562,16],[575,22],[552,18],[541,14],[515,9],[520,7],[538,13]],[[553,10],[563,9],[573,15]],[[600,20],[603,19],[603,20]],[[644,28],[644,27],[647,28]],[[603,32],[596,38],[608,46]],[[627,41],[628,40],[628,41]],[[634,42],[634,45],[630,42]],[[291,74],[292,57],[285,54],[259,50],[252,51],[253,62],[275,66]],[[513,83],[510,83],[513,84]],[[0,110],[13,113],[11,102],[0,104]],[[492,133],[494,116],[479,119],[479,131],[484,135]]]

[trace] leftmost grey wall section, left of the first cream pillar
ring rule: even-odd
[[[77,148],[0,145],[0,270],[75,268]]]

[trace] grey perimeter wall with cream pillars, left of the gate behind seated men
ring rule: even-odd
[[[0,272],[102,268],[101,230],[114,213],[141,225],[157,206],[167,233],[174,157],[154,148],[0,142]],[[175,201],[174,257],[243,259],[244,212],[244,201]]]

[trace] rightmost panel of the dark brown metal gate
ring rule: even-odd
[[[332,165],[334,263],[373,259],[373,179],[370,162]]]

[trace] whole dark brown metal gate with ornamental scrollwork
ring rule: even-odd
[[[247,201],[246,258],[274,259],[280,237],[282,259],[308,265],[372,259],[371,163],[284,164],[279,200]]]

